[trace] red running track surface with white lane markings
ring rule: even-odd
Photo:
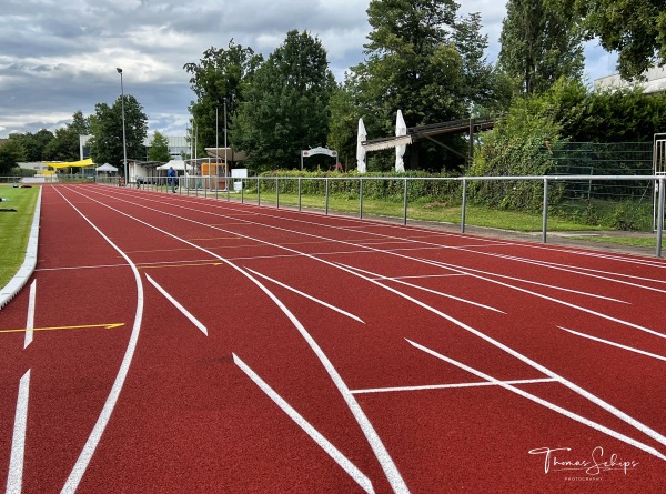
[[[660,259],[44,186],[6,492],[666,492],[665,302]]]

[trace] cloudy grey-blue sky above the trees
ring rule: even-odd
[[[494,62],[506,2],[460,0],[480,12]],[[51,131],[95,103],[132,94],[149,132],[184,135],[194,98],[185,63],[204,50],[236,44],[266,57],[290,29],[307,30],[329,52],[339,81],[363,61],[369,0],[3,0],[0,14],[0,138]],[[615,58],[586,48],[587,82],[613,73]]]

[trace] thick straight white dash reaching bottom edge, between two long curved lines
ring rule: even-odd
[[[366,493],[374,493],[372,482],[361,472],[340,450],[337,450],[326,437],[307,422],[293,406],[291,406],[280,394],[278,394],[265,381],[263,381],[245,362],[235,353],[233,361],[284,413],[289,415],[305,433],[322,448],[342,470],[344,470]]]

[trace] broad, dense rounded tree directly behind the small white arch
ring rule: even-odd
[[[301,150],[326,144],[334,90],[321,41],[287,32],[248,81],[231,127],[234,144],[256,171],[300,167]]]

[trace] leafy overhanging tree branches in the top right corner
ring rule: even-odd
[[[579,20],[588,40],[616,51],[624,79],[640,78],[650,67],[666,63],[664,0],[546,0],[561,16]]]

